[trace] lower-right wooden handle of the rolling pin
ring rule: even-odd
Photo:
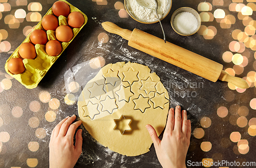
[[[237,86],[238,88],[241,88],[241,89],[249,88],[249,85],[246,82],[246,80],[231,76],[225,70],[222,70],[219,80],[232,83],[234,86]]]

